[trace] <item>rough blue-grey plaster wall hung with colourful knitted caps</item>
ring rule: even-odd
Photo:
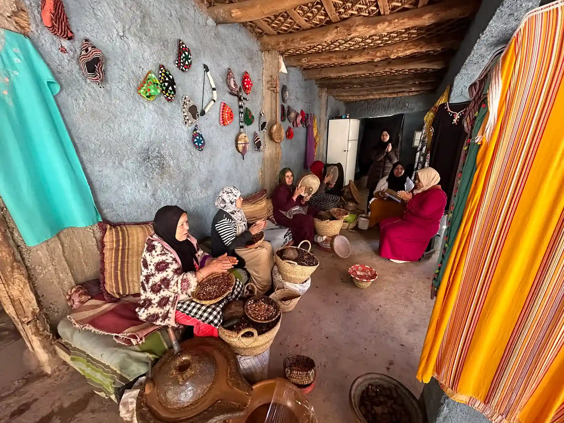
[[[252,140],[262,107],[262,55],[243,27],[215,25],[190,0],[170,0],[166,5],[157,0],[77,0],[65,2],[76,36],[63,41],[69,51],[65,55],[58,50],[58,39],[41,24],[38,3],[25,3],[32,18],[30,38],[60,82],[56,100],[104,219],[148,221],[161,206],[178,204],[190,214],[191,232],[201,237],[209,233],[213,202],[222,187],[236,185],[244,195],[260,188],[262,156],[250,147],[243,161],[236,151],[237,102],[225,82],[227,67],[239,83],[245,70],[252,77],[247,103],[255,116],[248,128]],[[102,88],[88,81],[78,67],[85,37],[103,51]],[[192,52],[192,68],[186,73],[174,67],[178,38]],[[201,105],[204,63],[211,70],[218,100],[200,118],[206,146],[199,152],[192,146],[191,130],[183,126],[181,99],[188,95]],[[175,77],[177,95],[172,103],[163,96],[148,102],[136,92],[147,70],[158,73],[159,64]],[[311,108],[316,91],[299,73],[290,71],[289,78],[296,86],[293,103],[305,111]],[[205,83],[207,103],[211,90]],[[219,125],[222,100],[235,113],[235,121],[226,127]],[[305,129],[298,130],[296,138],[304,142],[299,131]],[[283,148],[290,164],[303,161],[302,148],[294,152],[288,147]]]

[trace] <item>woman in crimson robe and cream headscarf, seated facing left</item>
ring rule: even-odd
[[[440,180],[433,168],[415,174],[414,194],[400,191],[407,201],[403,218],[391,217],[380,222],[380,255],[395,263],[415,262],[421,258],[431,237],[439,231],[447,195],[437,185]]]

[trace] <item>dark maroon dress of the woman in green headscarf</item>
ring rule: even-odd
[[[285,184],[279,184],[272,193],[272,213],[277,224],[292,231],[294,245],[303,240],[314,241],[314,216],[319,213],[306,204],[302,204],[301,197],[294,200],[294,193]],[[305,213],[304,213],[305,211]]]

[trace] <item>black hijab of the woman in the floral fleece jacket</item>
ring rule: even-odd
[[[180,258],[183,272],[196,271],[196,248],[189,239],[179,241],[176,239],[176,228],[180,217],[186,213],[178,206],[164,206],[157,210],[153,220],[155,234],[170,245]]]

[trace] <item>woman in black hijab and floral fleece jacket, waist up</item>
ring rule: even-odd
[[[236,258],[211,258],[188,233],[186,211],[164,206],[155,214],[155,233],[147,238],[141,259],[140,320],[177,326],[175,312],[181,299],[190,298],[198,282],[214,272],[226,272]]]

